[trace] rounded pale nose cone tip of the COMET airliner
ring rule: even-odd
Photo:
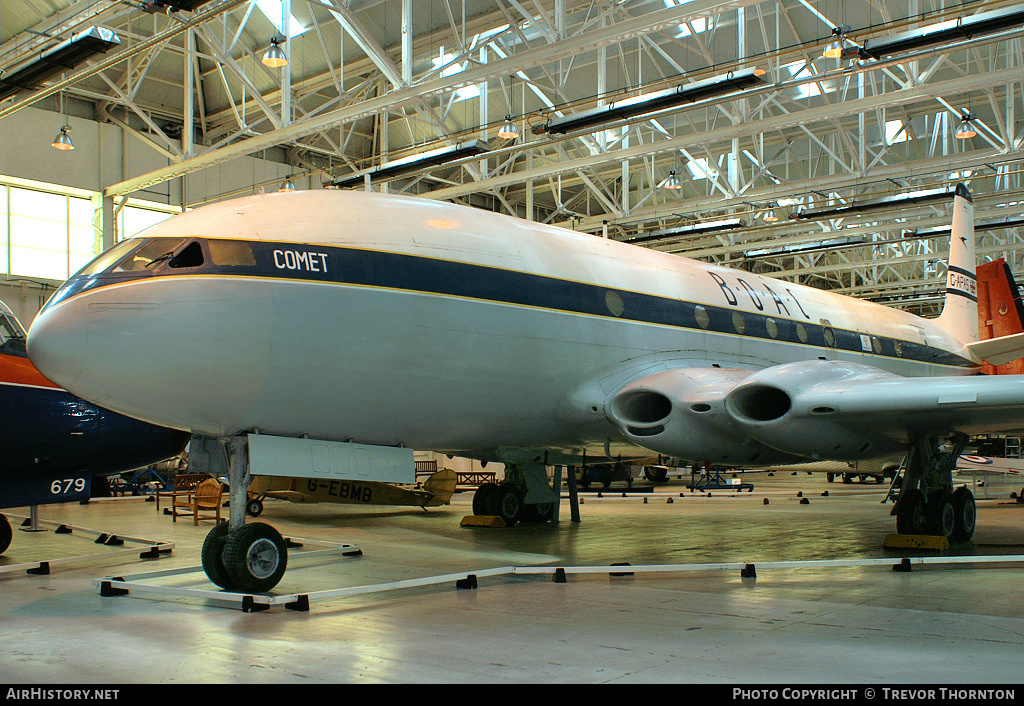
[[[73,389],[89,355],[87,317],[74,301],[46,308],[29,328],[29,359],[47,379]]]

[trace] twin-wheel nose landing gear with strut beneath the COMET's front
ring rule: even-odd
[[[200,470],[228,476],[230,520],[220,523],[203,542],[203,570],[225,590],[263,593],[281,581],[288,568],[288,542],[265,523],[246,524],[249,450],[245,437],[193,437],[189,461]]]

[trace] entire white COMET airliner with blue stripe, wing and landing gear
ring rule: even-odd
[[[651,452],[766,466],[908,453],[901,533],[968,539],[968,434],[1024,427],[1024,376],[978,375],[974,220],[953,201],[942,315],[886,306],[469,207],[355,191],[175,216],[71,278],[29,334],[78,396],[193,433],[231,518],[223,588],[287,565],[245,522],[250,474],[412,483],[413,449],[506,464],[474,511],[550,517],[546,464]],[[952,440],[952,450],[943,445]],[[197,454],[193,453],[191,457]],[[478,511],[479,513],[479,511]]]

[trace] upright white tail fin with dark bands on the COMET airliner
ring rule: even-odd
[[[935,323],[965,345],[978,340],[978,281],[974,250],[974,203],[971,192],[956,184],[949,239],[946,299]]]

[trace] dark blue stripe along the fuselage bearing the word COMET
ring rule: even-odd
[[[914,341],[872,336],[866,344],[870,350],[865,350],[864,335],[858,331],[515,269],[361,248],[259,241],[251,245],[255,264],[217,265],[207,258],[193,267],[175,268],[164,261],[141,273],[83,276],[70,281],[53,301],[88,289],[153,277],[258,277],[479,299],[698,333],[742,335],[947,367],[976,367],[968,359]],[[292,254],[286,257],[289,252]]]

